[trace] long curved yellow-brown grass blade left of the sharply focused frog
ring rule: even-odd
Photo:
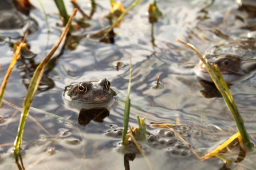
[[[48,53],[48,55],[45,56],[44,60],[38,65],[36,71],[34,72],[34,75],[31,79],[31,82],[29,84],[29,88],[27,89],[27,93],[23,102],[23,108],[22,108],[22,113],[21,113],[21,119],[19,121],[19,127],[18,127],[18,132],[17,132],[17,137],[14,141],[14,155],[17,156],[19,152],[19,148],[21,147],[22,143],[22,134],[23,134],[23,129],[26,123],[26,118],[27,114],[29,114],[29,108],[31,105],[31,102],[34,98],[34,95],[36,94],[37,88],[39,86],[39,83],[42,79],[42,75],[44,74],[45,66],[49,62],[50,58],[53,56],[54,52],[57,50],[58,46],[60,45],[62,39],[68,34],[69,27],[71,25],[71,22],[74,18],[74,15],[76,15],[77,9],[73,10],[72,15],[70,15],[69,21],[65,27],[65,30],[61,34],[60,39],[58,42],[53,46],[52,50]]]

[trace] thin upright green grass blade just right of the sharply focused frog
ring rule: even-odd
[[[124,123],[123,123],[123,133],[122,133],[122,144],[124,145],[125,135],[128,131],[129,124],[129,114],[130,114],[130,92],[131,92],[131,82],[132,82],[132,56],[130,54],[130,71],[129,71],[129,83],[127,89],[127,97],[124,104]]]

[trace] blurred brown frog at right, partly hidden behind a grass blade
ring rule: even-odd
[[[256,68],[255,64],[253,64],[246,70],[243,70],[241,68],[241,59],[236,55],[222,55],[215,60],[210,55],[207,55],[206,58],[210,58],[208,59],[208,63],[213,63],[219,66],[223,78],[227,83],[235,82],[235,80],[247,75],[250,71],[253,71]],[[195,67],[195,74],[208,82],[212,82],[211,76],[202,61]]]

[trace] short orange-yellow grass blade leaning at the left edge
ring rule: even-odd
[[[13,67],[15,66],[15,63],[19,59],[19,56],[21,56],[20,55],[21,48],[26,46],[25,40],[26,40],[27,34],[28,34],[28,32],[25,33],[24,38],[22,39],[22,42],[17,47],[17,49],[14,53],[14,56],[13,56],[13,60],[11,60],[11,63],[10,63],[10,66],[9,66],[7,72],[6,72],[5,78],[3,79],[2,86],[0,88],[0,107],[2,106],[3,93],[5,92],[5,87],[6,87],[6,84],[8,82],[9,76],[11,74],[11,70],[13,70]]]

